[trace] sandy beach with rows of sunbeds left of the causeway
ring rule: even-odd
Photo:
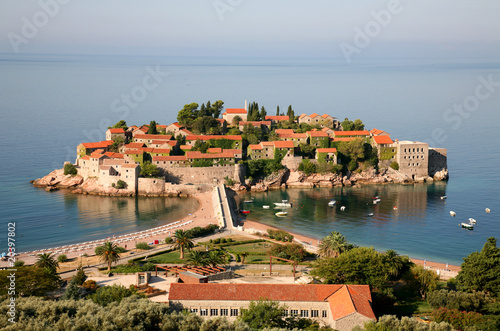
[[[25,265],[30,265],[36,262],[37,254],[52,252],[56,256],[66,255],[69,259],[81,258],[84,254],[88,257],[95,256],[95,247],[101,245],[105,241],[113,241],[120,247],[124,247],[127,252],[135,249],[135,244],[138,242],[154,242],[154,240],[164,240],[170,237],[176,230],[187,230],[197,226],[204,227],[209,224],[217,224],[214,211],[212,208],[212,191],[197,193],[191,197],[198,200],[199,206],[192,215],[180,217],[170,223],[157,226],[154,228],[123,234],[120,236],[111,236],[90,242],[73,243],[61,247],[52,247],[46,249],[39,249],[29,252],[21,252],[15,255],[16,261],[24,261]],[[157,245],[153,245],[155,247]],[[9,267],[8,261],[0,261],[0,268]]]

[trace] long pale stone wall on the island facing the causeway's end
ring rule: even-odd
[[[243,169],[242,169],[243,168]],[[165,169],[167,182],[175,184],[214,184],[223,182],[225,177],[239,182],[244,167],[240,165],[221,167],[179,167]],[[244,174],[243,174],[244,178]]]

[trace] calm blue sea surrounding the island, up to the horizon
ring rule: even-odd
[[[28,251],[188,217],[195,199],[72,195],[34,188],[30,180],[74,161],[80,142],[104,140],[107,127],[121,119],[169,124],[185,104],[208,100],[223,100],[228,108],[256,101],[270,115],[291,105],[296,115],[360,118],[393,139],[448,149],[447,182],[252,194],[249,219],[316,239],[339,231],[357,245],[451,264],[480,250],[488,237],[500,238],[498,59],[347,64],[329,58],[0,54],[0,253],[7,250],[8,223],[15,223],[16,250]],[[381,202],[373,205],[376,195]],[[331,198],[339,201],[336,208],[328,207]],[[261,208],[281,199],[295,202],[287,218]],[[472,231],[459,226],[469,217],[477,220]]]

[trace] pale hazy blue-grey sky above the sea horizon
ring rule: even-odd
[[[0,53],[498,58],[498,13],[498,0],[2,0]]]

